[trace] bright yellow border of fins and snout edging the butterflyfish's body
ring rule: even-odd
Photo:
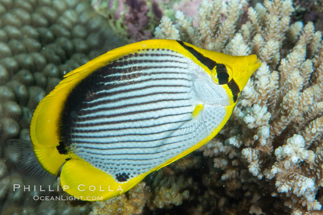
[[[231,56],[223,53],[204,50],[191,44],[185,44],[193,47],[198,52],[215,60],[216,62],[231,65],[233,67],[233,70],[236,71],[234,72],[234,74],[238,74],[236,77],[234,75],[234,79],[236,81],[239,80],[237,84],[239,85],[240,89],[245,86],[246,82],[248,81],[251,74],[255,71],[255,69],[257,69],[261,65],[261,63],[257,61],[255,55]],[[129,181],[124,183],[116,182],[115,179],[109,176],[107,173],[96,169],[88,162],[77,158],[73,154],[59,154],[56,147],[58,146],[60,141],[58,131],[59,125],[61,123],[60,114],[65,101],[72,89],[89,74],[91,74],[98,68],[108,64],[112,60],[144,48],[169,48],[178,51],[184,56],[191,58],[196,64],[204,68],[207,73],[211,73],[211,71],[205,65],[199,62],[189,51],[185,50],[180,44],[178,44],[178,42],[174,40],[148,40],[111,50],[108,53],[103,54],[89,61],[87,64],[84,64],[83,66],[66,74],[64,76],[65,79],[63,79],[55,87],[55,89],[49,95],[47,95],[37,106],[31,120],[30,137],[38,161],[44,167],[44,169],[46,169],[50,173],[57,175],[61,165],[66,161],[66,159],[72,159],[65,162],[63,166],[61,173],[61,184],[62,186],[68,186],[69,188],[65,189],[65,191],[73,196],[102,196],[102,199],[100,200],[106,200],[117,194],[128,191],[130,188],[139,183],[147,174],[180,159],[181,157],[187,155],[188,153],[196,150],[197,148],[208,142],[222,129],[232,113],[235,104],[225,107],[226,115],[224,116],[224,120],[208,137],[203,139],[201,142],[198,142],[188,150],[183,151],[176,157],[169,159],[168,161],[151,169],[150,171],[147,171],[146,173],[143,173],[140,176],[130,179]],[[235,68],[237,70],[235,70]],[[243,72],[239,74],[241,68],[245,68],[246,72],[249,73],[247,75],[245,75]],[[194,113],[198,114],[198,112],[202,110],[199,110],[199,108],[201,107],[196,107],[196,112]],[[78,187],[80,184],[84,184],[84,187]],[[105,191],[99,191],[100,185],[101,190]],[[103,187],[104,185],[110,185],[110,190],[113,191],[109,191],[108,187]],[[90,186],[95,186],[96,190],[90,191]],[[118,190],[119,186],[121,186],[122,191]],[[85,191],[79,191],[78,188],[80,190],[85,189]]]

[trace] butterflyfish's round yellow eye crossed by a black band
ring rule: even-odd
[[[216,64],[211,72],[211,79],[214,83],[222,85],[229,83],[232,79],[232,67],[226,64]]]

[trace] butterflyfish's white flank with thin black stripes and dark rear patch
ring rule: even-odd
[[[62,141],[121,182],[188,149],[224,115],[214,107],[193,119],[192,63],[172,50],[144,49],[99,68],[68,96]]]

